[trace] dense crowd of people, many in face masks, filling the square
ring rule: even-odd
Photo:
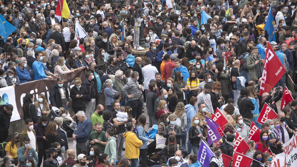
[[[156,149],[157,167],[199,167],[199,146],[208,137],[206,118],[217,108],[229,123],[222,138],[210,145],[211,167],[224,166],[221,153],[232,157],[236,133],[249,144],[246,155],[254,167],[270,166],[295,135],[295,2],[66,0],[62,8],[68,6],[68,18],[56,15],[59,3],[0,0],[1,15],[17,29],[0,42],[0,88],[55,81],[49,97],[23,97],[21,133],[9,132],[13,106],[1,105],[0,142],[7,141],[2,166],[146,167],[146,150],[154,141],[146,137],[148,122],[166,139]],[[270,10],[276,34],[270,45],[287,73],[260,95],[268,45],[263,29]],[[210,16],[203,24],[202,11]],[[78,39],[76,24],[86,37]],[[136,50],[145,51],[145,58],[133,55]],[[61,75],[78,70],[85,78],[73,78],[70,89]],[[285,86],[293,101],[280,111],[276,103]],[[248,140],[250,123],[253,111],[261,112],[265,103],[277,118],[261,125],[256,144]],[[59,110],[53,120],[52,107]],[[75,150],[68,147],[63,122],[77,127]]]

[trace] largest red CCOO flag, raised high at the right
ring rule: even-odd
[[[267,42],[259,95],[262,96],[264,92],[269,92],[279,79],[282,78],[285,72],[285,67],[279,61],[279,58],[271,48],[270,43]]]

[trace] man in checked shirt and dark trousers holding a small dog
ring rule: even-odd
[[[135,118],[136,120],[142,113],[142,99],[141,99],[141,92],[142,89],[138,88],[138,78],[139,74],[138,72],[134,71],[131,75],[132,80],[128,81],[126,85],[123,87],[122,92],[125,95],[125,97],[129,98],[129,104],[132,108],[131,114],[132,118]]]

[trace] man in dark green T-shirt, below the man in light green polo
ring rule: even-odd
[[[102,131],[102,125],[100,122],[96,122],[93,127],[95,127],[94,128],[95,131],[93,131],[90,134],[90,137],[89,137],[89,140],[91,140],[90,144],[94,144],[95,146],[98,146],[101,153],[103,154],[105,150],[105,146],[107,144],[107,138],[105,136],[105,132]]]

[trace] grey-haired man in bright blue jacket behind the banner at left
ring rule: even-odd
[[[31,52],[31,54],[32,54],[32,51],[28,51],[28,52]],[[25,82],[31,81],[31,76],[25,67],[27,67],[26,59],[19,58],[18,59],[18,67],[15,68],[15,71],[16,71],[16,75],[20,79],[20,83],[25,83]]]

